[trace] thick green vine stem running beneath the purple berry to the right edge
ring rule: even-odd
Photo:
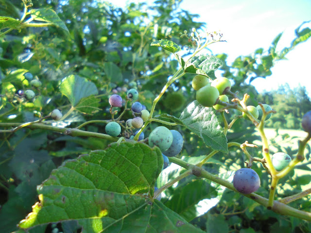
[[[199,177],[203,177],[206,178],[212,182],[221,184],[223,186],[225,186],[226,188],[239,193],[233,186],[232,183],[221,179],[220,177],[213,175],[209,172],[207,172],[206,170],[202,169],[201,167],[189,164],[181,159],[175,158],[175,157],[169,157],[170,162],[177,164],[179,166],[182,166],[186,169],[191,169],[192,171],[195,169],[201,169],[201,172],[199,173]],[[194,173],[192,173],[194,174]],[[256,194],[256,193],[251,193],[251,194],[242,194],[241,195],[252,199],[256,202],[258,202],[260,205],[263,205],[265,207],[268,207],[268,199],[261,197],[260,195]],[[281,214],[281,215],[287,215],[287,216],[294,216],[294,217],[298,217],[301,219],[305,219],[307,221],[311,221],[311,213],[305,212],[305,211],[301,211],[301,210],[297,210],[291,206],[288,206],[284,203],[281,203],[279,201],[273,201],[273,206],[271,208],[272,211],[276,212],[277,214]]]

